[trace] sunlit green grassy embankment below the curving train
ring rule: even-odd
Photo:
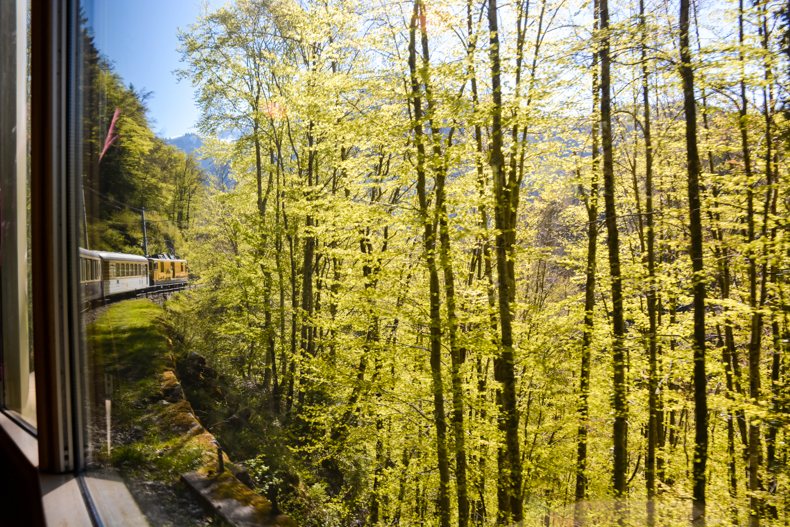
[[[130,482],[138,501],[157,501],[159,497],[140,496],[136,490],[141,486],[134,482],[145,482],[148,488],[158,483],[177,489],[183,499],[182,474],[217,477],[214,437],[195,419],[184,398],[174,373],[170,341],[163,331],[163,316],[164,310],[151,301],[129,300],[111,305],[88,328],[93,356],[113,379],[110,461]],[[102,451],[105,449],[102,445]],[[223,497],[254,506],[265,521],[271,509],[265,499],[227,472],[219,479]],[[158,503],[156,508],[161,506]],[[142,508],[149,514],[145,504]],[[165,505],[158,514],[168,516],[167,508]],[[177,508],[177,504],[170,508]],[[216,519],[207,521],[217,524]]]

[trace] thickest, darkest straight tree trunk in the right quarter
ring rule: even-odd
[[[680,1],[680,75],[686,118],[690,254],[694,272],[694,464],[692,521],[705,525],[705,467],[708,461],[708,395],[705,377],[705,276],[702,252],[702,214],[699,190],[700,161],[697,148],[697,105],[689,45],[689,0]]]

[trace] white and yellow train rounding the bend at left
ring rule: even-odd
[[[80,292],[83,304],[134,294],[183,287],[189,280],[186,260],[167,254],[91,251],[80,248]]]

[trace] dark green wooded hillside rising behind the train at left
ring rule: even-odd
[[[144,254],[143,215],[148,254],[183,249],[195,203],[208,176],[194,155],[182,152],[151,130],[146,100],[150,93],[125,85],[103,57],[89,32],[83,34],[87,86],[83,111],[91,116],[85,132],[82,245]]]

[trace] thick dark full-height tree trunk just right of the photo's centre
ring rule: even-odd
[[[513,313],[511,298],[514,296],[512,281],[513,250],[511,230],[515,222],[511,194],[513,189],[507,181],[502,145],[502,87],[501,63],[499,58],[499,28],[497,0],[488,0],[489,53],[491,59],[491,90],[493,95],[491,125],[490,165],[494,180],[496,200],[495,224],[496,263],[499,276],[499,328],[500,353],[494,364],[494,376],[500,383],[497,402],[499,406],[499,429],[505,436],[505,444],[499,451],[499,477],[497,496],[500,525],[519,522],[522,519],[521,505],[521,454],[518,440],[518,409],[516,406],[515,353],[513,349]]]

